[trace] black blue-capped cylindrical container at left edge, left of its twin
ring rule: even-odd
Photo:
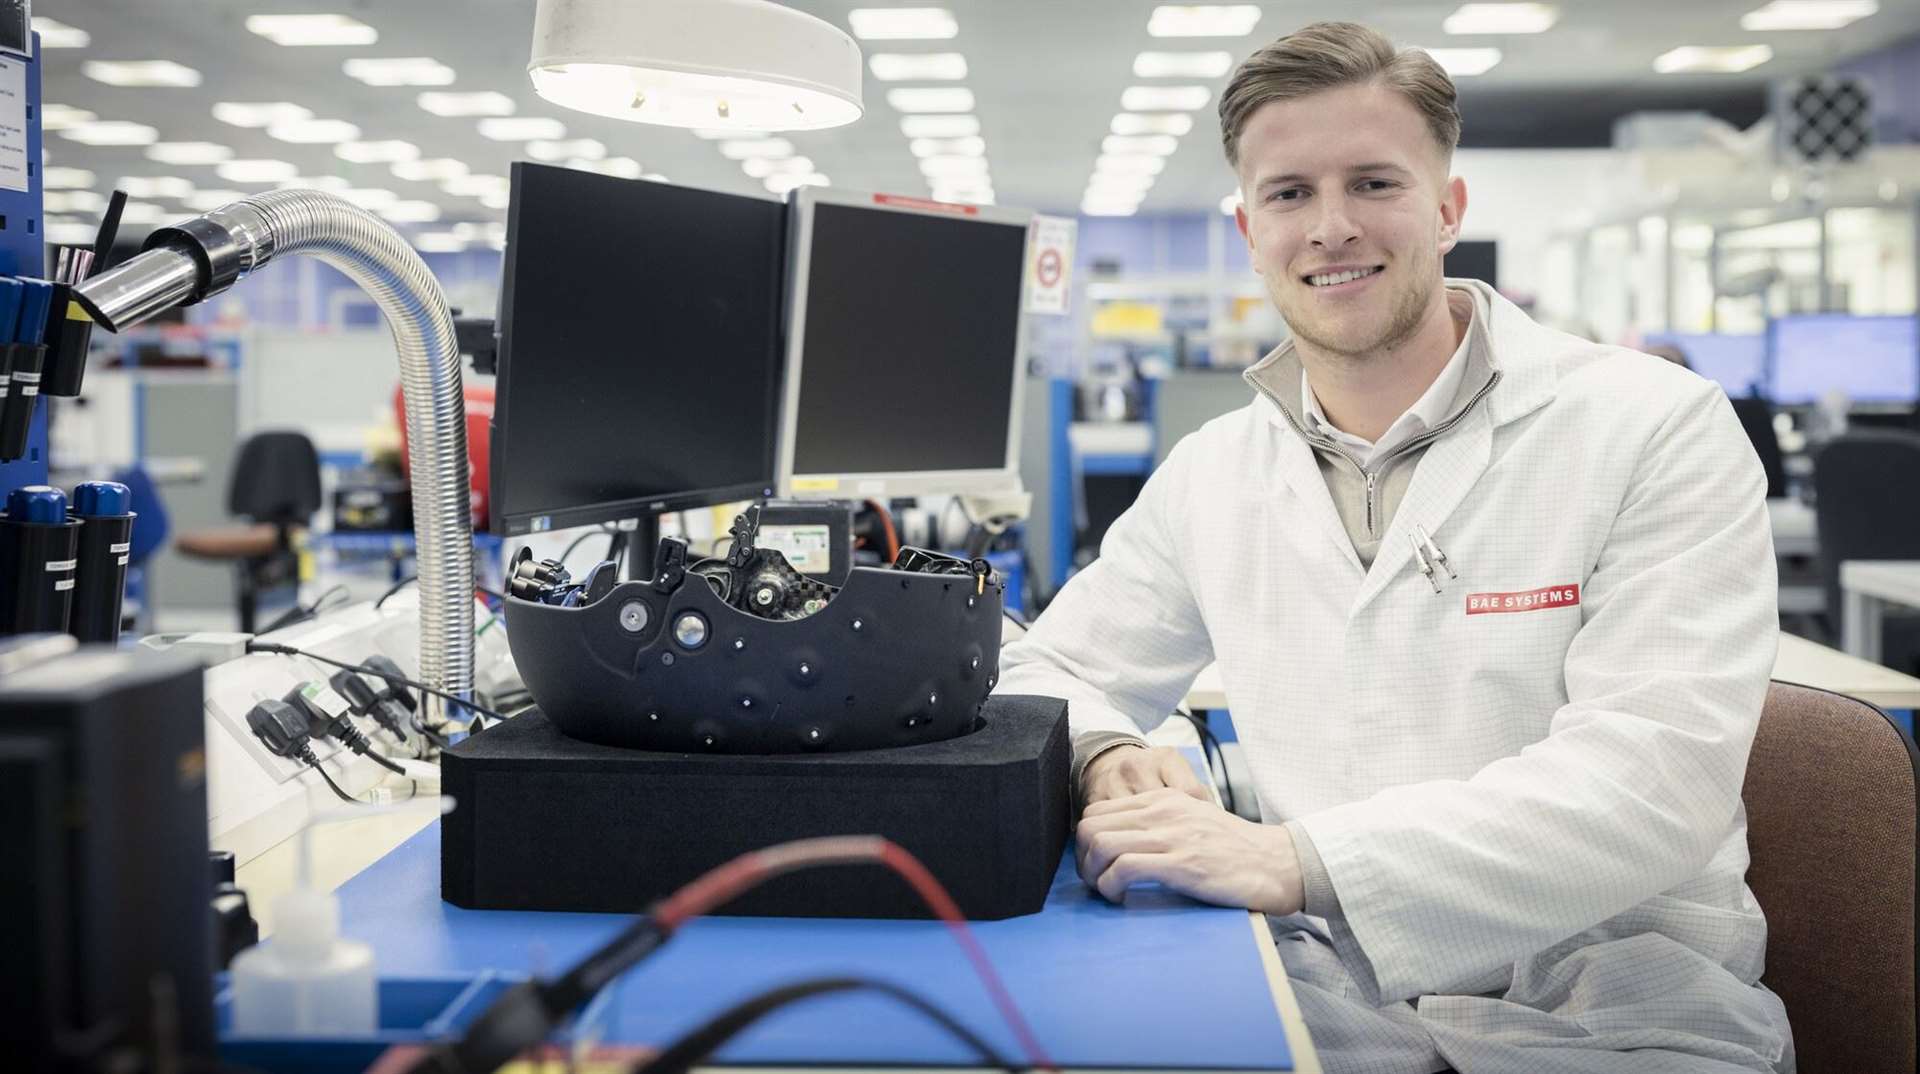
[[[8,494],[0,515],[0,632],[65,634],[79,544],[81,525],[67,519],[65,492],[29,484]]]

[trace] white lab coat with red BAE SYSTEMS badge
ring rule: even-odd
[[[1371,569],[1256,398],[1181,440],[998,690],[1139,732],[1217,661],[1261,815],[1313,840],[1363,1001],[1461,1070],[1555,1068],[1542,1045],[1580,1070],[1632,1047],[1791,1066],[1743,880],[1778,632],[1761,467],[1713,382],[1450,286],[1476,292],[1500,380],[1419,461]],[[1413,526],[1459,573],[1440,594]],[[1663,1066],[1640,1057],[1617,1068]]]

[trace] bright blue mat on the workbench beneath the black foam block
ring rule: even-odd
[[[612,828],[612,824],[609,824]],[[614,832],[609,838],[618,838]],[[876,884],[891,884],[876,868]],[[344,932],[382,978],[555,974],[605,943],[618,915],[465,911],[440,901],[440,824],[340,888]],[[1290,1070],[1246,911],[1137,890],[1092,895],[1071,847],[1046,907],[973,932],[1041,1047],[1062,1066]],[[699,918],[612,988],[607,1043],[662,1045],[762,989],[816,976],[881,978],[925,995],[1008,1059],[1012,1030],[939,920]],[[733,1064],[973,1064],[918,1013],[872,993],[806,999],[724,1047]]]

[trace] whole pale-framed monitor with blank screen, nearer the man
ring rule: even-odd
[[[783,494],[1018,488],[1031,223],[991,206],[797,192]]]

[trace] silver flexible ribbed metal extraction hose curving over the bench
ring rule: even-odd
[[[202,302],[284,254],[340,269],[386,315],[399,354],[420,573],[420,680],[459,697],[474,682],[472,507],[461,354],[440,281],[367,209],[317,190],[275,190],[156,231],[148,250],[75,288],[108,330]],[[445,701],[428,696],[440,717]],[[438,720],[434,720],[438,722]]]

